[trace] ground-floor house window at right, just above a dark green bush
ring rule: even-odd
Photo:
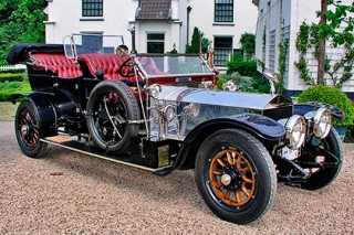
[[[232,36],[215,36],[214,50],[214,64],[226,66],[232,54]]]

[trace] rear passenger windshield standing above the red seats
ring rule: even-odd
[[[124,44],[122,35],[72,34],[64,38],[67,57],[81,54],[114,54],[118,45]]]

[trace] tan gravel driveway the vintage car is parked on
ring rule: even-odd
[[[257,223],[235,225],[205,205],[192,171],[157,177],[51,147],[21,154],[13,121],[0,121],[0,234],[353,234],[354,145],[340,177],[308,192],[279,184]]]

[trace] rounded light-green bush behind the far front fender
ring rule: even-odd
[[[334,126],[351,126],[354,121],[354,107],[351,99],[335,87],[311,86],[299,96],[299,103],[322,102],[341,108],[346,118],[343,121],[333,120]]]

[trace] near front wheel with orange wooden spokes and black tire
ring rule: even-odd
[[[248,132],[219,130],[201,145],[196,184],[208,207],[236,224],[259,220],[272,204],[277,174],[264,146]]]

